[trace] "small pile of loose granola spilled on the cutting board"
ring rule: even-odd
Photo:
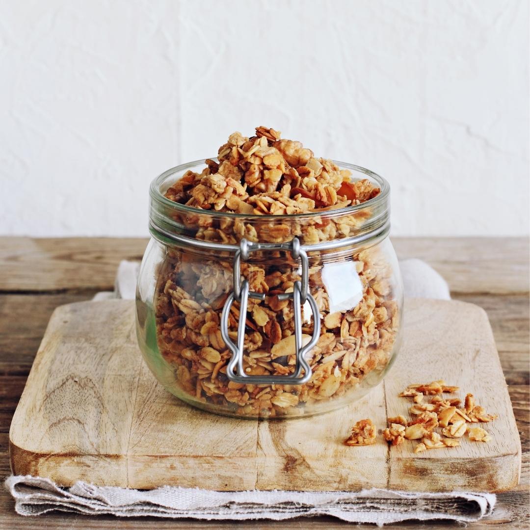
[[[427,449],[458,447],[459,438],[466,432],[470,440],[491,441],[491,436],[482,427],[472,427],[468,423],[487,423],[497,418],[496,414],[487,414],[483,407],[475,404],[473,394],[465,396],[464,407],[460,399],[445,399],[441,394],[453,393],[457,386],[448,386],[444,381],[428,384],[409,385],[399,395],[413,398],[409,408],[410,420],[404,416],[387,418],[388,427],[383,430],[383,438],[391,445],[399,445],[403,440],[419,440],[414,453]],[[424,395],[432,395],[429,402],[423,401]],[[440,428],[441,435],[436,432]],[[443,436],[442,436],[443,435]],[[376,441],[376,429],[370,419],[358,421],[352,427],[346,445],[372,445]]]

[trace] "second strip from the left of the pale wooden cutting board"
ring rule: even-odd
[[[255,488],[254,421],[189,407],[165,391],[145,363],[138,381],[127,452],[130,488],[162,484],[190,488],[202,484],[214,490]]]

